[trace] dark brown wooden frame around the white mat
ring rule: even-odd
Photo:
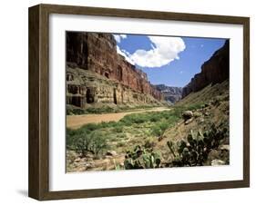
[[[49,15],[100,15],[176,20],[243,26],[243,180],[93,190],[49,190]],[[146,194],[184,190],[214,190],[250,186],[250,18],[224,15],[124,10],[69,5],[29,8],[29,181],[28,195],[36,200],[59,200]]]

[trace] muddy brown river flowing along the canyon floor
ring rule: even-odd
[[[87,123],[98,123],[98,122],[118,122],[124,116],[132,113],[140,112],[161,112],[168,111],[169,108],[158,107],[147,110],[137,110],[131,112],[118,112],[118,113],[104,113],[104,114],[82,114],[82,115],[67,115],[67,128],[77,129]]]

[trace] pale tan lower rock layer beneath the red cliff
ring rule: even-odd
[[[72,76],[71,80],[70,77]],[[89,104],[158,104],[152,95],[138,93],[118,81],[80,68],[67,67],[67,104],[86,108]]]

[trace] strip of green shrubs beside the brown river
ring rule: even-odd
[[[186,109],[188,107],[163,112],[133,113],[119,122],[89,123],[77,130],[67,129],[67,149],[81,156],[87,152],[98,156],[108,149],[125,151],[134,143],[152,147],[154,140],[174,126]],[[190,109],[195,109],[195,106]],[[128,136],[130,139],[127,139]]]

